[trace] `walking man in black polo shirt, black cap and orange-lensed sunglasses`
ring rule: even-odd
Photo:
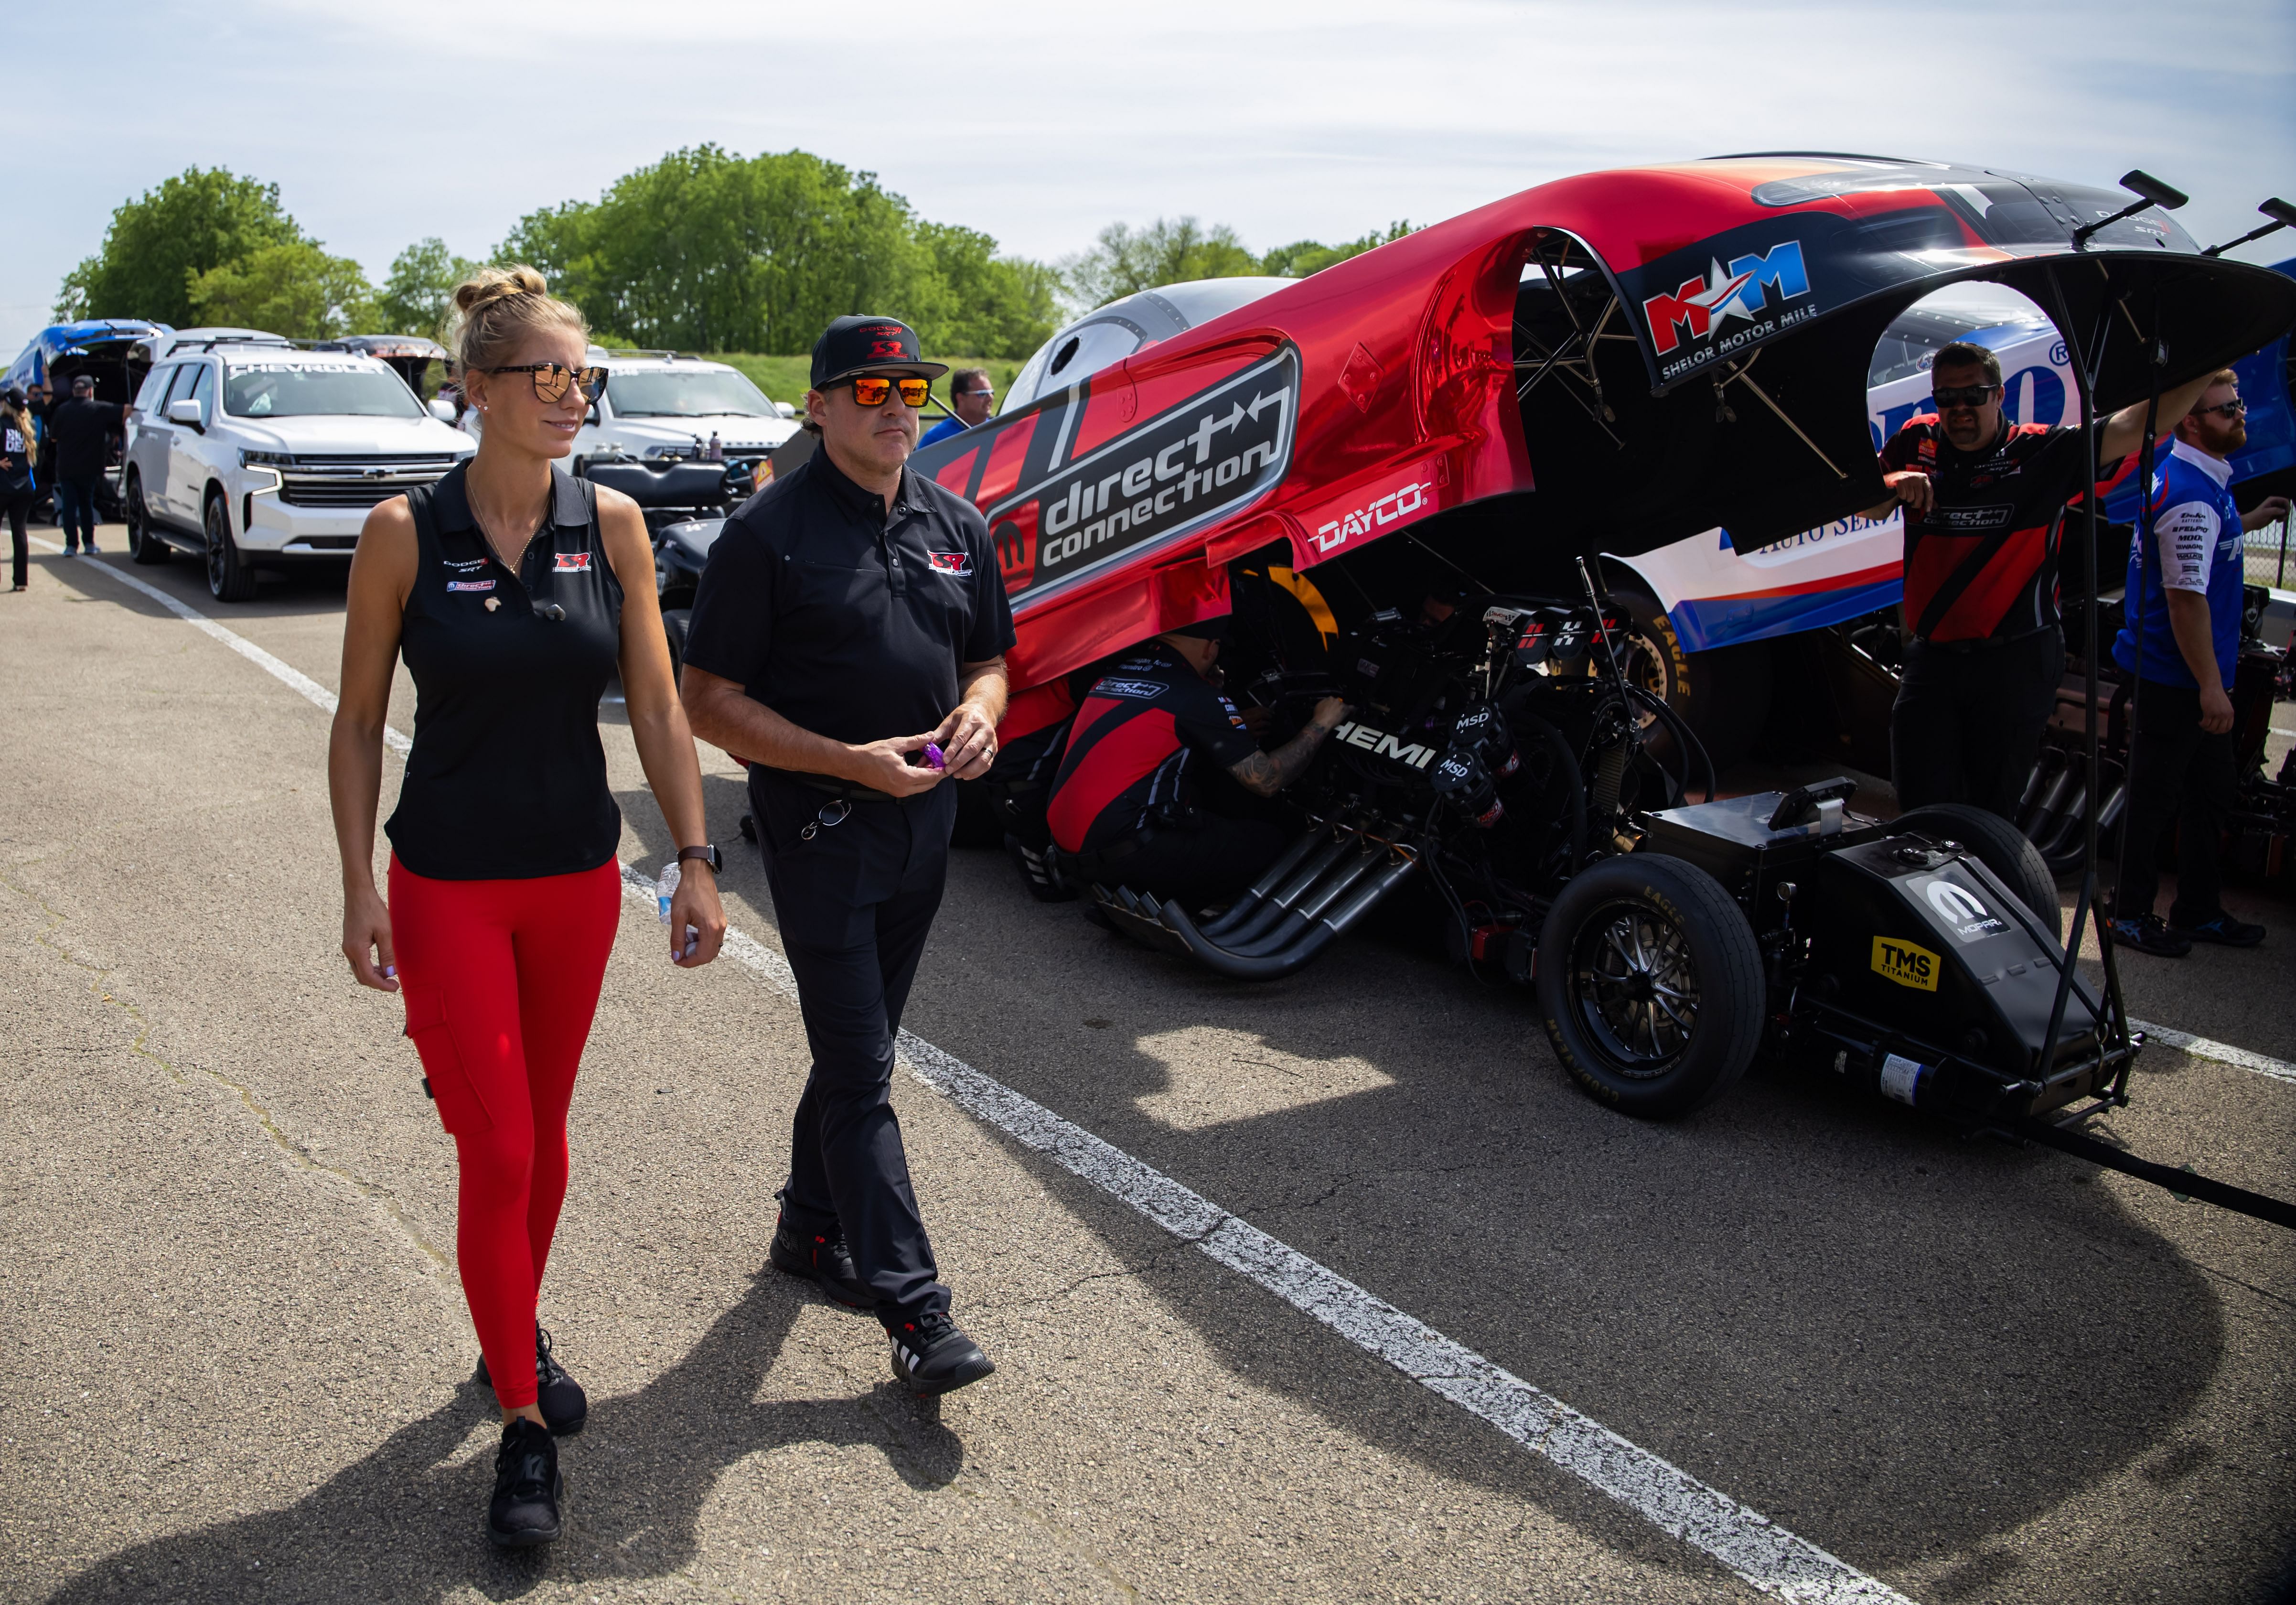
[[[939,363],[889,317],[813,347],[820,450],[726,521],[687,636],[693,732],[748,765],[813,1075],[774,1265],[893,1339],[921,1394],[985,1378],[948,1318],[893,1116],[893,1038],[941,905],[955,788],[996,755],[1013,611],[980,512],[905,468]]]

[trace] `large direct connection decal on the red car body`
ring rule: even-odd
[[[1283,347],[996,503],[1006,590],[1033,602],[1265,496],[1290,468],[1297,416],[1300,354]]]

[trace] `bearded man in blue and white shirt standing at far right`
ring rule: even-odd
[[[2232,670],[2241,654],[2241,535],[2289,512],[2268,496],[2248,517],[2232,501],[2232,455],[2248,443],[2248,404],[2229,367],[2209,374],[2200,402],[2151,484],[2151,533],[2128,546],[2131,620],[2112,661],[2138,677],[2128,833],[2112,898],[2112,941],[2183,957],[2195,941],[2252,948],[2264,925],[2225,914],[2218,847],[2232,808]],[[2142,597],[2142,604],[2140,604]],[[2142,659],[2140,659],[2142,641]],[[2161,838],[2177,827],[2177,900],[2161,893]]]

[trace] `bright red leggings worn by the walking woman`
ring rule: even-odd
[[[567,1196],[567,1102],[622,909],[611,859],[540,879],[429,879],[390,856],[406,1036],[461,1160],[455,1254],[505,1408],[535,1403],[535,1297]]]

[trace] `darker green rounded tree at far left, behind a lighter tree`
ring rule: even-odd
[[[193,321],[191,280],[301,239],[278,184],[186,168],[113,211],[103,246],[64,276],[55,317],[152,317],[184,328]]]

